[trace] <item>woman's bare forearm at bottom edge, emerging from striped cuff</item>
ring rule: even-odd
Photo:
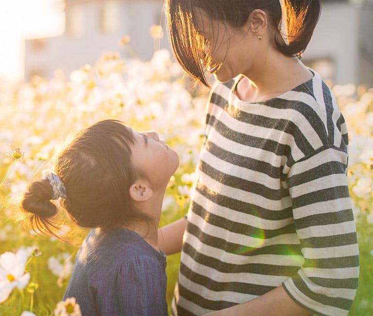
[[[283,286],[246,303],[206,314],[208,316],[307,316],[312,312],[299,306]]]

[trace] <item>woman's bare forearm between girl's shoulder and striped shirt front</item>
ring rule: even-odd
[[[183,217],[159,229],[158,246],[166,255],[172,255],[181,251],[186,223],[187,220]]]

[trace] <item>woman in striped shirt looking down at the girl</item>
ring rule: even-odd
[[[320,1],[168,0],[167,10],[178,62],[218,81],[187,219],[161,229],[166,254],[182,247],[173,313],[347,315],[359,264],[347,129],[299,59]]]

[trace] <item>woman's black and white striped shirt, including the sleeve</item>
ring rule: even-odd
[[[283,285],[318,315],[347,315],[359,257],[348,135],[331,90],[311,80],[260,103],[239,78],[213,88],[173,314],[203,315]]]

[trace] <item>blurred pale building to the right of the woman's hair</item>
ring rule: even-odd
[[[324,0],[303,61],[337,84],[373,87],[372,17],[372,0]]]

